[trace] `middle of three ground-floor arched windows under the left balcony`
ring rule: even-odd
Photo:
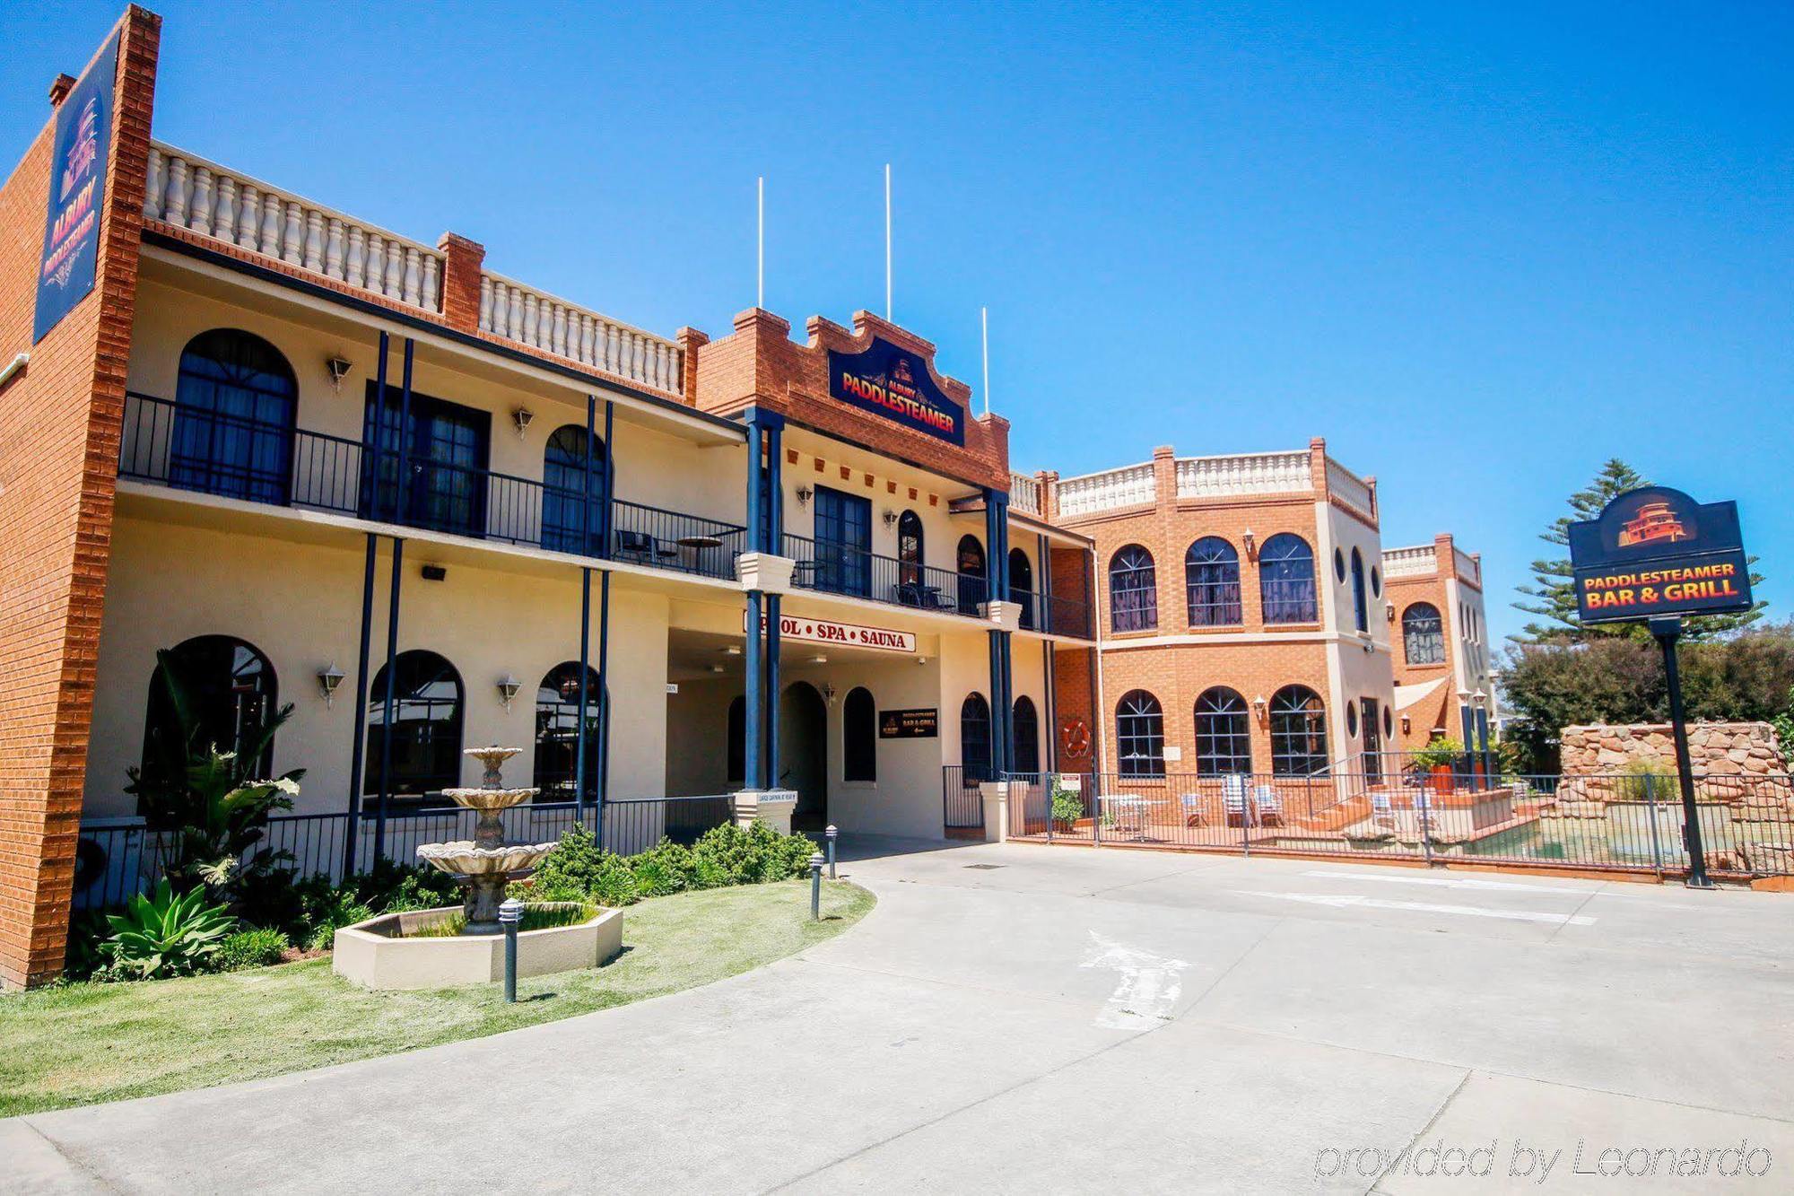
[[[393,788],[400,797],[425,797],[461,779],[461,673],[422,648],[393,661]],[[368,686],[368,772],[362,792],[380,792],[386,743],[386,664]]]

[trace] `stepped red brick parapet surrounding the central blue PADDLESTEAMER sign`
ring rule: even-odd
[[[779,411],[786,418],[849,444],[865,445],[920,469],[972,487],[1008,492],[1008,420],[972,415],[972,388],[945,377],[935,381],[949,399],[965,408],[965,447],[958,447],[879,418],[829,397],[829,352],[859,352],[874,334],[901,345],[935,365],[935,347],[917,334],[867,311],[854,312],[849,332],[832,320],[809,318],[809,343],[791,339],[791,325],[779,316],[748,309],[736,316],[736,330],[714,341],[701,334],[684,338],[687,372],[694,377],[692,402],[718,415],[736,415],[750,406]],[[694,352],[696,350],[696,352]],[[691,357],[696,356],[696,368]]]

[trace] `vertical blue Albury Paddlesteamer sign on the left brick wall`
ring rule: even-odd
[[[56,110],[50,203],[43,217],[43,259],[38,264],[38,320],[30,338],[34,345],[93,289],[117,75],[115,32]]]

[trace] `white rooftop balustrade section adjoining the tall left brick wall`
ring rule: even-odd
[[[409,307],[441,309],[441,251],[161,142],[149,147],[144,217]]]

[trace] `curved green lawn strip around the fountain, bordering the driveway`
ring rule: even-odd
[[[554,1022],[709,984],[854,925],[872,894],[809,882],[707,889],[628,907],[623,954],[592,972],[370,993],[328,959],[136,984],[72,984],[0,997],[0,1117],[203,1088]]]

